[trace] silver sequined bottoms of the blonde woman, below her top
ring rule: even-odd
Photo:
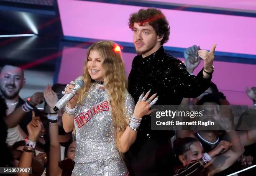
[[[121,160],[75,163],[72,176],[127,176],[128,170]]]

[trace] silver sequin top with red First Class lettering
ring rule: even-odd
[[[105,89],[93,83],[74,116],[76,131],[76,163],[120,160],[116,148],[110,98]],[[128,117],[134,110],[134,100],[126,91],[125,107]],[[127,119],[128,120],[128,119]],[[122,161],[123,162],[123,161]]]

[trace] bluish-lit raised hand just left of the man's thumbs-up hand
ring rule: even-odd
[[[185,65],[187,67],[187,71],[192,74],[200,64],[200,57],[198,55],[198,50],[200,50],[199,46],[191,46],[184,51]]]

